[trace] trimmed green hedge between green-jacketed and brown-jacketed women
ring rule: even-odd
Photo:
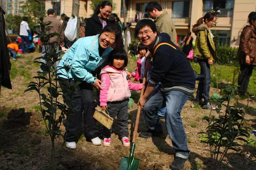
[[[238,48],[228,47],[228,46],[217,46],[216,55],[219,64],[224,65],[234,65],[238,64],[237,59]]]

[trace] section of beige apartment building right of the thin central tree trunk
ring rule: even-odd
[[[172,17],[180,41],[192,30],[197,19],[205,13],[216,11],[218,17],[216,29],[219,45],[238,47],[240,34],[247,24],[248,15],[256,11],[256,0],[157,0],[164,11]],[[135,27],[136,21],[148,18],[145,13],[147,0],[129,0],[128,17]],[[195,40],[195,34],[192,34]]]

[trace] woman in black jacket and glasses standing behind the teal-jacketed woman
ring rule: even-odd
[[[112,12],[112,4],[103,1],[98,4],[91,18],[88,18],[85,26],[85,37],[97,35],[107,25],[108,17]]]

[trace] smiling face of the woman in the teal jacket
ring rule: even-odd
[[[112,32],[103,32],[99,37],[99,44],[101,48],[112,47],[116,40],[116,34]]]

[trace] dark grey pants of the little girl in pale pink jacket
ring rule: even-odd
[[[115,101],[115,102],[108,102],[108,109],[106,113],[109,113],[109,116],[113,119],[117,115],[117,122],[120,128],[120,138],[128,137],[129,131],[128,131],[128,102],[129,99],[123,100],[123,101]],[[111,130],[103,127],[103,136],[104,137],[111,137]]]

